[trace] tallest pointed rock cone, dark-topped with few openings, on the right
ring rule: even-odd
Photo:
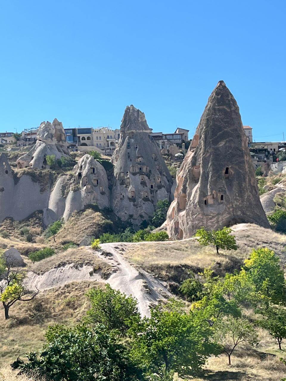
[[[239,107],[220,81],[178,171],[167,229],[170,237],[183,239],[201,226],[216,230],[237,223],[269,227]]]

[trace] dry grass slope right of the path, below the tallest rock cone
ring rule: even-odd
[[[233,227],[238,250],[222,250],[217,255],[213,246],[203,247],[195,239],[167,242],[114,244],[131,262],[144,267],[165,280],[181,281],[188,271],[198,273],[211,266],[218,275],[239,269],[252,248],[268,247],[286,261],[286,235],[254,224]]]

